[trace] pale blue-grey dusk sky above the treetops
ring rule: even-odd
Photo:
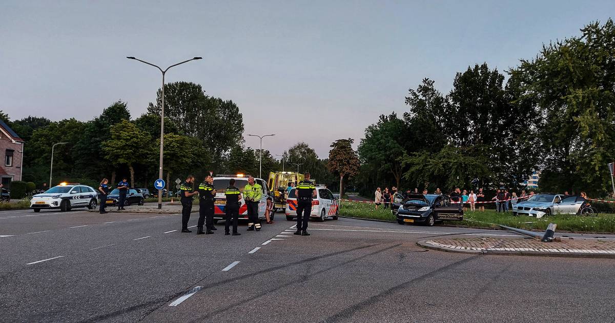
[[[124,100],[137,118],[161,74],[126,56],[164,67],[200,56],[167,82],[236,102],[246,135],[277,134],[264,140],[272,154],[303,141],[327,158],[334,140],[356,146],[379,114],[406,111],[423,78],[446,93],[468,65],[507,70],[614,12],[615,1],[5,0],[0,110],[87,121]]]

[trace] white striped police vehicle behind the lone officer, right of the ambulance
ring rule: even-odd
[[[327,188],[317,187],[316,198],[312,199],[312,213],[310,218],[317,218],[319,221],[325,221],[325,218],[331,217],[337,220],[339,215],[339,199],[333,196],[333,193]],[[286,220],[292,221],[297,217],[297,197],[295,196],[295,188],[288,193],[286,200]]]

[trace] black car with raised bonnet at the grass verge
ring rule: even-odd
[[[408,194],[397,210],[397,223],[423,223],[428,226],[435,221],[463,220],[461,204],[451,204],[450,197],[436,194]]]

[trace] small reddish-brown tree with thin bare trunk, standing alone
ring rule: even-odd
[[[339,176],[339,196],[343,196],[343,178],[348,180],[359,173],[361,166],[357,152],[352,149],[354,140],[338,139],[331,143],[327,169],[329,172]]]

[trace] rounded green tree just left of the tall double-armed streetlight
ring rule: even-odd
[[[153,151],[151,136],[127,120],[111,126],[111,138],[102,143],[105,158],[113,165],[125,164],[130,184],[135,185],[135,165],[147,161]]]

